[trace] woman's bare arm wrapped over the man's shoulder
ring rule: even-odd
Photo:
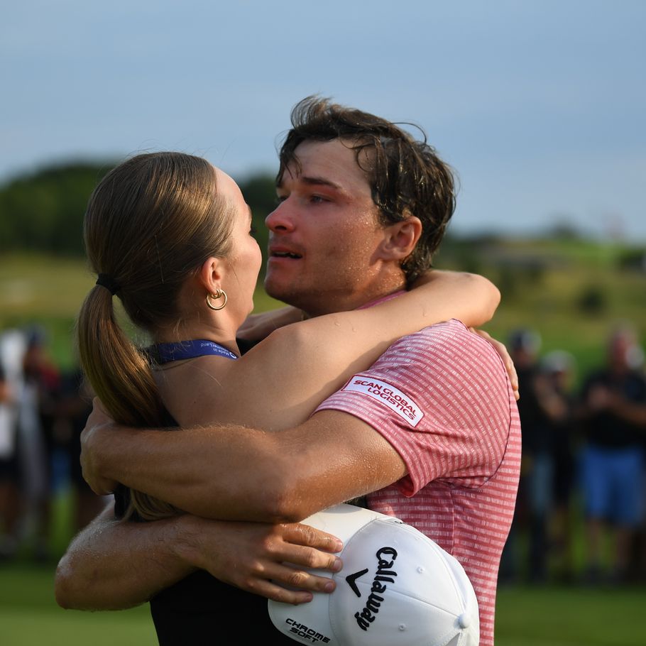
[[[433,271],[423,282],[373,307],[278,329],[218,382],[188,373],[182,400],[190,396],[190,406],[171,406],[171,412],[182,426],[214,420],[264,429],[298,425],[400,336],[450,318],[482,324],[500,300],[498,289],[478,275]]]

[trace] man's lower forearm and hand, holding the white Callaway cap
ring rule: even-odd
[[[341,547],[334,537],[305,525],[219,522],[190,515],[124,522],[114,518],[110,507],[77,535],[62,557],[56,601],[77,610],[131,608],[195,569],[205,569],[248,592],[304,603],[312,598],[311,591],[331,592],[334,582],[301,568],[338,571],[341,562],[331,552]]]

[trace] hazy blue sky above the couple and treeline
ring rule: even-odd
[[[292,106],[418,124],[457,234],[646,242],[642,0],[2,0],[0,183],[143,150],[275,172]]]

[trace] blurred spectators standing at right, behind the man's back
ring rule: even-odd
[[[522,467],[501,582],[646,581],[646,376],[633,329],[608,334],[605,361],[579,375],[566,351],[514,332]]]

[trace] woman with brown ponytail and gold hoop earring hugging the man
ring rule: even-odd
[[[238,358],[236,332],[253,308],[261,264],[250,224],[235,182],[190,155],[138,155],[97,187],[85,238],[99,280],[80,312],[78,336],[84,371],[114,419],[135,426],[173,426],[175,419],[185,426],[297,425],[398,337],[450,317],[482,324],[498,302],[483,278],[434,272],[427,285],[370,309],[280,328]],[[128,340],[114,294],[152,337],[151,351]],[[126,516],[145,520],[178,513],[136,491],[127,507]],[[231,605],[253,616],[260,600],[264,611],[260,597],[239,593],[231,601],[238,593],[226,588]],[[168,630],[170,612],[181,616],[198,601],[208,606],[217,594],[218,582],[203,573],[169,588],[153,600],[158,630],[160,622]],[[182,598],[190,603],[182,606]]]

